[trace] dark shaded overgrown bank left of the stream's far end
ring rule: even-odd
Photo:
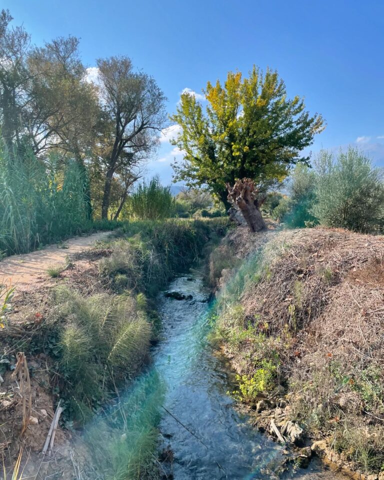
[[[116,291],[122,287],[151,296],[197,259],[209,240],[221,236],[226,222],[217,218],[124,223],[123,237],[111,243],[111,255],[99,261],[100,274]]]

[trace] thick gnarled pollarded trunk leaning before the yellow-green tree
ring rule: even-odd
[[[257,198],[259,192],[254,186],[254,181],[251,178],[243,178],[237,180],[233,186],[227,183],[226,188],[228,200],[241,211],[249,229],[260,231],[266,228],[259,209],[262,202]]]

